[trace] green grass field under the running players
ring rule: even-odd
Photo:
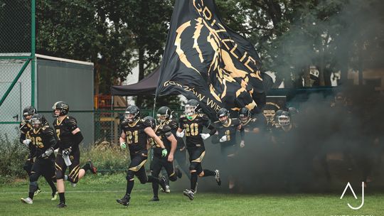
[[[202,180],[201,184],[206,183]],[[28,183],[19,181],[11,185],[0,185],[0,215],[383,215],[384,193],[366,192],[365,204],[360,210],[351,210],[361,203],[361,189],[355,200],[346,193],[340,200],[335,194],[230,194],[198,191],[193,201],[181,193],[188,185],[186,179],[171,185],[171,193],[160,193],[160,202],[149,202],[151,185],[140,185],[136,180],[131,204],[117,204],[125,192],[124,174],[86,176],[75,188],[66,185],[67,205],[58,209],[58,200],[50,201],[50,189],[43,179],[39,180],[43,192],[33,205],[21,203],[27,196]],[[180,188],[180,189],[176,189]]]

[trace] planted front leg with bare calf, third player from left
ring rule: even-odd
[[[58,153],[58,156],[55,160],[55,170],[56,170],[56,185],[58,189],[58,195],[60,198],[60,202],[58,207],[67,207],[65,204],[65,186],[64,186],[64,173],[67,169],[65,165],[64,159],[61,153]]]

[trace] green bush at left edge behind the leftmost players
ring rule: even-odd
[[[9,183],[16,178],[26,178],[23,164],[28,148],[17,139],[10,141],[6,134],[0,134],[0,183]]]

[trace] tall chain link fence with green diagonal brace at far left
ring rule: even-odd
[[[33,1],[0,0],[0,134],[18,136],[23,107],[33,102]]]

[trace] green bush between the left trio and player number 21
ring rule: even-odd
[[[129,164],[129,151],[120,149],[120,146],[102,142],[97,146],[80,149],[80,166],[88,159],[92,160],[101,173],[126,171]]]

